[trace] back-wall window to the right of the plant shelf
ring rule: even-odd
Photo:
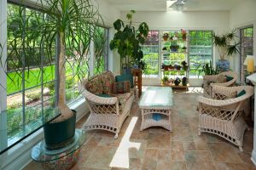
[[[189,77],[202,75],[201,66],[212,60],[212,31],[189,31]]]

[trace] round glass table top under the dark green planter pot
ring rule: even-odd
[[[54,161],[64,156],[69,156],[84,144],[86,133],[82,129],[76,129],[73,142],[60,150],[47,150],[44,140],[32,148],[32,159],[34,161]]]

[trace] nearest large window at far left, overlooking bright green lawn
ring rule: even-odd
[[[37,26],[38,22],[44,22],[44,17],[31,8],[8,4],[8,145],[40,127],[46,114],[54,114],[55,44],[52,51],[47,51],[44,50],[47,42],[40,42]],[[29,31],[24,33],[25,30]],[[27,43],[21,44],[21,38]],[[31,39],[34,41],[29,41]],[[40,45],[43,50],[39,50]],[[21,46],[26,50],[21,50]]]

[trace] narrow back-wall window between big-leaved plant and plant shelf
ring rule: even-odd
[[[143,44],[143,60],[146,63],[145,76],[159,75],[159,31],[149,31],[148,38]]]

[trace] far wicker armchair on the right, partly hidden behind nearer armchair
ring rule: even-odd
[[[219,83],[218,80],[220,79],[220,77],[224,76],[233,77],[233,79],[229,82]],[[207,98],[211,98],[212,85],[228,87],[234,85],[237,79],[238,76],[234,71],[224,71],[222,73],[219,73],[218,75],[205,75],[203,77],[204,96]]]

